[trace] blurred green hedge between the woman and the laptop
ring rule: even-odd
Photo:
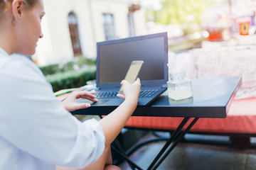
[[[85,57],[75,57],[65,64],[49,64],[39,67],[53,91],[84,86],[86,81],[96,78],[96,61]]]

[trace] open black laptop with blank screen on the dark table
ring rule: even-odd
[[[139,72],[142,86],[138,106],[148,106],[167,89],[167,55],[167,33],[97,42],[95,96],[98,101],[91,106],[119,106],[124,101],[117,93],[134,60],[144,61]]]

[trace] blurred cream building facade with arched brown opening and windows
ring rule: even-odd
[[[96,42],[146,33],[144,11],[124,0],[45,0],[43,39],[32,57],[39,66],[96,57]]]

